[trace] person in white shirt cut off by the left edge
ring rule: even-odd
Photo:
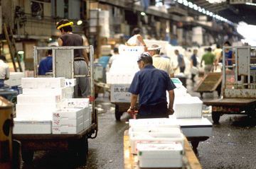
[[[0,88],[4,87],[4,80],[8,80],[10,77],[9,66],[6,62],[6,57],[0,56]]]

